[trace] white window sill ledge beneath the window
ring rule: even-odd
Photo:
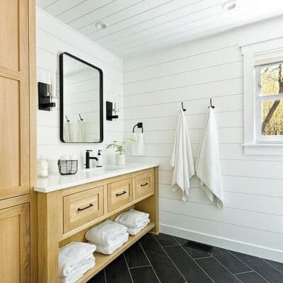
[[[243,144],[244,154],[283,156],[283,144]]]

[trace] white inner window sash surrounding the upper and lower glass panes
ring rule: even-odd
[[[283,93],[279,93],[276,95],[270,96],[262,96],[261,95],[261,81],[260,81],[260,70],[262,67],[272,66],[274,64],[283,64],[282,61],[277,59],[268,59],[269,63],[265,62],[265,64],[255,65],[255,128],[256,128],[256,141],[260,142],[271,142],[271,143],[282,143],[283,144],[283,135],[277,136],[264,136],[261,134],[261,103],[265,100],[283,100]]]

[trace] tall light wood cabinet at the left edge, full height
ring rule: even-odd
[[[0,282],[37,282],[35,1],[0,0]]]

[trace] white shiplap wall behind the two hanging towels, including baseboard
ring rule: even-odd
[[[161,231],[283,261],[283,158],[243,155],[243,57],[240,44],[278,32],[282,19],[152,52],[124,62],[125,135],[144,122],[146,157],[159,171]],[[277,35],[276,35],[277,36]],[[281,32],[281,36],[283,33]],[[213,98],[225,208],[216,209],[193,178],[188,202],[171,187],[169,166],[180,102],[194,157]],[[132,159],[132,158],[129,158]]]

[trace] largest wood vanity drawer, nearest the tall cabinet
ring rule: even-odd
[[[103,186],[64,197],[64,233],[103,215]]]

